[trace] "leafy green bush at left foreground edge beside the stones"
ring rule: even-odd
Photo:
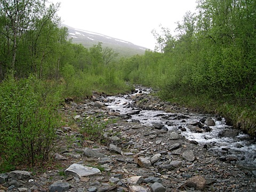
[[[35,165],[51,157],[60,93],[50,94],[46,89],[49,87],[33,76],[18,82],[13,73],[1,83],[1,171],[19,164]]]

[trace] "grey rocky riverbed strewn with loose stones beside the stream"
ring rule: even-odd
[[[195,112],[143,92],[129,97],[135,102],[122,105],[129,104],[133,113],[164,110],[186,122],[181,114]],[[111,99],[94,94],[82,103],[67,101],[62,113],[77,127],[57,132],[61,147],[53,164],[58,166],[0,174],[0,191],[255,191],[256,171],[236,164],[238,158],[219,156],[207,145],[186,139],[182,126],[169,130],[127,120],[132,114],[109,108]],[[92,116],[103,122],[118,119],[104,129],[105,143],[86,140],[79,131],[85,126],[83,119]],[[197,131],[211,129],[200,121],[191,126]]]

